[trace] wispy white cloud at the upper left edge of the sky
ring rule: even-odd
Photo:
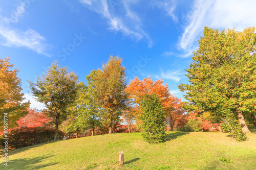
[[[46,53],[49,44],[45,43],[44,36],[32,29],[20,31],[10,26],[11,22],[14,25],[15,22],[18,22],[18,19],[24,15],[25,10],[26,4],[20,3],[12,12],[11,17],[2,16],[0,13],[0,43],[9,47],[27,47],[38,54],[50,56]]]

